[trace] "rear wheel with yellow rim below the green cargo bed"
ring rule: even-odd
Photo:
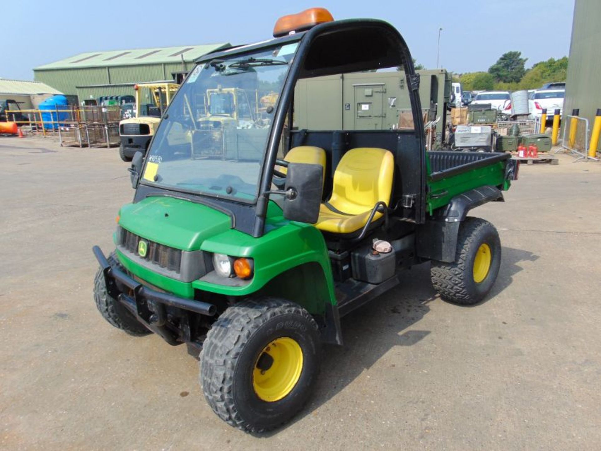
[[[453,263],[432,261],[430,278],[441,298],[471,305],[483,300],[495,283],[501,267],[501,240],[490,222],[468,217],[457,237]]]

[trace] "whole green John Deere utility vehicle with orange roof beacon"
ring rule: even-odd
[[[273,35],[197,61],[147,157],[133,159],[117,249],[94,247],[105,319],[201,349],[210,407],[255,432],[301,410],[322,344],[343,344],[340,317],[394,288],[404,269],[430,261],[442,298],[482,300],[501,243],[468,213],[502,201],[517,172],[504,153],[425,150],[419,77],[389,23],[315,8],[282,17]],[[401,65],[415,130],[294,126],[295,102],[307,101],[294,98],[298,80]],[[276,92],[275,107],[224,133],[235,159],[194,159],[197,112],[220,85]]]

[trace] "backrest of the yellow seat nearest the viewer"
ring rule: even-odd
[[[359,214],[383,201],[390,202],[394,156],[385,149],[359,147],[340,159],[334,172],[329,204],[348,214]]]

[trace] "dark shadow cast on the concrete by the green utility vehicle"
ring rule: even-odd
[[[520,262],[538,258],[527,250],[503,247],[498,279],[490,294],[474,306],[486,303],[507,288],[514,274],[522,270]],[[392,348],[415,345],[430,334],[429,330],[412,327],[430,312],[429,304],[438,299],[430,282],[430,264],[404,271],[400,280],[391,291],[341,319],[344,346],[323,347],[322,371],[305,408],[281,428],[254,435],[271,437],[278,434],[334,398]]]

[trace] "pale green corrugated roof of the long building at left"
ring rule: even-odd
[[[229,46],[230,43],[221,43],[201,46],[151,47],[149,49],[79,53],[79,55],[70,56],[60,61],[43,64],[34,68],[34,70],[160,64],[163,62],[180,62],[182,61],[182,56],[184,61],[189,62],[194,61],[205,53]]]

